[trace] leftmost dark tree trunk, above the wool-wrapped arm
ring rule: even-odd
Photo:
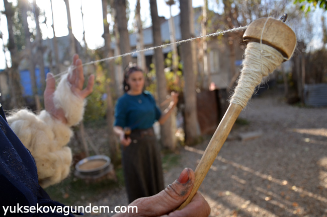
[[[5,12],[7,18],[7,26],[8,26],[8,50],[10,51],[12,66],[9,69],[9,85],[11,87],[11,106],[15,108],[20,108],[24,105],[24,99],[22,95],[22,87],[21,87],[21,78],[18,71],[18,65],[20,62],[20,58],[18,55],[17,47],[14,42],[14,31],[13,31],[13,21],[12,18],[14,16],[14,12],[12,9],[12,3],[8,3],[8,0],[4,0]]]

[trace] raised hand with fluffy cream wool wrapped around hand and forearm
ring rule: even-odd
[[[44,91],[45,110],[36,115],[22,109],[7,118],[10,127],[31,152],[37,167],[39,184],[46,188],[66,178],[72,161],[66,144],[72,135],[70,126],[83,119],[85,98],[92,92],[94,76],[83,90],[81,60],[73,56],[68,74],[61,76],[55,88],[52,74]]]

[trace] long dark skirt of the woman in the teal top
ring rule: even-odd
[[[136,130],[132,142],[122,148],[122,162],[128,200],[148,197],[163,190],[161,158],[153,129]]]

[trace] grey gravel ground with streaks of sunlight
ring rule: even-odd
[[[200,187],[210,216],[327,216],[327,108],[300,108],[278,97],[253,99],[232,129]],[[238,133],[261,131],[241,141]],[[209,140],[180,150],[180,163],[165,172],[173,182],[185,167],[196,168]],[[93,205],[127,205],[125,189]],[[111,214],[85,214],[111,216]]]

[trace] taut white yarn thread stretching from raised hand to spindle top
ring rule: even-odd
[[[119,57],[125,57],[125,56],[128,56],[128,55],[133,55],[135,53],[144,52],[144,51],[148,51],[148,50],[154,50],[154,49],[157,49],[157,48],[160,48],[160,47],[166,47],[166,46],[170,46],[170,45],[173,45],[173,44],[181,44],[181,43],[188,42],[188,41],[193,41],[193,40],[199,39],[199,38],[206,38],[206,37],[223,35],[223,34],[225,34],[227,32],[236,32],[236,31],[239,31],[239,30],[247,29],[247,28],[248,28],[248,26],[241,26],[241,27],[229,29],[229,30],[226,30],[226,31],[215,32],[215,33],[211,33],[211,34],[208,34],[208,35],[203,35],[203,36],[198,36],[198,37],[194,37],[194,38],[189,38],[189,39],[186,39],[186,40],[177,41],[177,42],[174,42],[174,43],[162,44],[162,45],[159,45],[159,46],[153,46],[153,47],[149,47],[149,48],[146,48],[146,49],[143,49],[143,50],[136,50],[136,51],[133,51],[133,52],[124,53],[124,54],[120,54],[120,55],[117,55],[117,56],[107,57],[107,58],[103,58],[103,59],[99,59],[99,60],[95,60],[95,61],[90,61],[90,62],[82,64],[82,66],[94,64],[94,63],[97,63],[97,62],[103,62],[103,61],[107,61],[107,60],[117,59]],[[71,70],[73,70],[75,68],[76,67],[72,67]],[[59,76],[64,75],[66,73],[68,73],[68,70],[65,70],[62,73],[59,73],[57,75],[54,75],[53,77],[54,78],[59,77]],[[45,80],[45,81],[47,81],[47,80]]]

